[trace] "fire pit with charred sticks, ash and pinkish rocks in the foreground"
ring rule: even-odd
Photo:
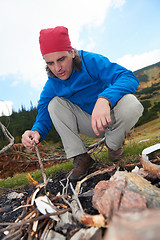
[[[140,159],[144,168],[147,154]],[[42,169],[42,183],[1,196],[1,239],[159,239],[159,173],[155,175],[155,166],[154,176],[134,166],[132,172],[124,171],[128,166],[100,170],[94,166],[79,182],[70,182],[65,172],[47,179]],[[127,229],[133,229],[132,235]]]

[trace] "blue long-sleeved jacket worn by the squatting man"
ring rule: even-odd
[[[105,97],[111,107],[125,94],[134,93],[139,81],[124,67],[111,63],[108,58],[80,51],[82,70],[73,70],[67,80],[48,77],[38,104],[38,115],[32,130],[39,131],[41,141],[50,131],[52,121],[48,104],[55,96],[65,97],[84,111],[92,114],[98,97]]]

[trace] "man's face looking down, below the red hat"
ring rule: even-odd
[[[61,80],[67,80],[73,71],[74,51],[48,53],[43,56],[51,72]]]

